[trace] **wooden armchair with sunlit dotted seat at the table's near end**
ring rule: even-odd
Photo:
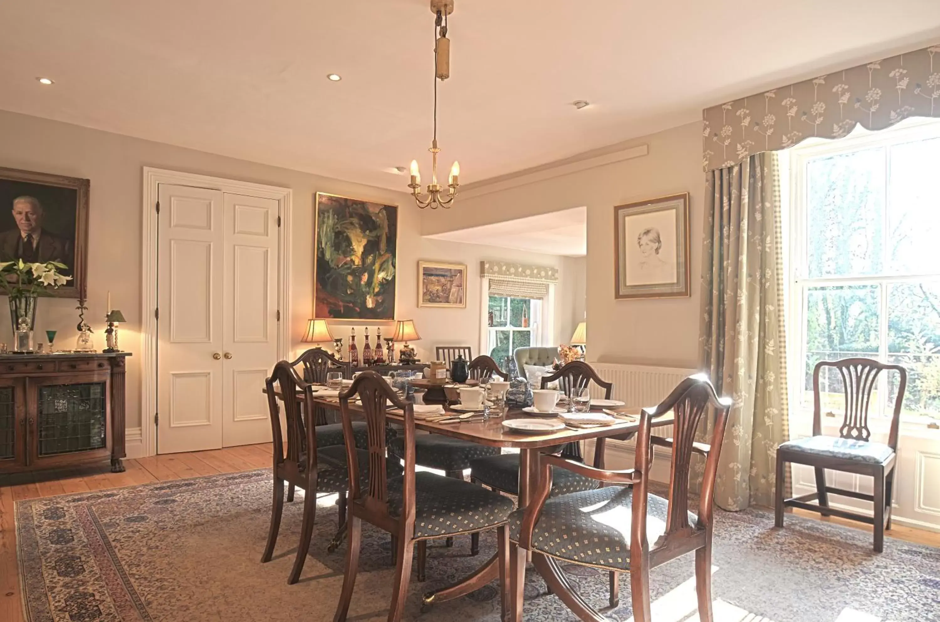
[[[694,551],[698,619],[712,622],[714,479],[730,408],[731,400],[718,397],[708,377],[698,374],[680,382],[659,406],[640,412],[633,469],[606,471],[576,460],[540,455],[538,490],[528,507],[509,516],[509,619],[522,620],[527,552],[544,555],[551,568],[546,577],[549,587],[584,620],[607,618],[581,599],[556,560],[629,572],[633,619],[650,622],[650,569]],[[652,420],[670,411],[675,416],[674,437],[651,436]],[[696,443],[696,430],[709,412],[714,416],[712,443]],[[671,449],[666,497],[649,490],[653,445]],[[697,514],[689,510],[693,454],[705,458]],[[607,486],[550,498],[553,474],[559,469]]]

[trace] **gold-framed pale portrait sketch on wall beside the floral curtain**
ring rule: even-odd
[[[689,295],[689,194],[614,208],[614,297]]]

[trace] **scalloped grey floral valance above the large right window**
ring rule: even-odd
[[[702,111],[706,171],[842,138],[862,124],[883,130],[907,117],[940,117],[940,45],[837,71]]]

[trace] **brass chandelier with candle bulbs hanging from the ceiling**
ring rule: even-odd
[[[431,151],[431,183],[428,184],[427,194],[422,194],[421,173],[418,171],[417,160],[412,160],[411,183],[408,184],[415,196],[417,207],[422,210],[428,207],[431,210],[449,208],[461,185],[458,179],[461,174],[461,165],[456,160],[450,167],[446,194],[444,194],[444,186],[437,182],[437,154],[441,151],[437,147],[437,81],[450,77],[450,39],[447,39],[447,16],[454,12],[454,0],[431,0],[431,12],[436,16],[434,18],[434,137],[431,140],[431,148],[428,149]]]

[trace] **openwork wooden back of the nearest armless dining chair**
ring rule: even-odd
[[[356,455],[355,437],[352,432],[352,416],[349,400],[358,396],[362,400],[363,415],[368,429],[368,482],[367,490],[360,490],[359,461]],[[404,412],[404,480],[403,506],[399,518],[393,518],[388,509],[388,476],[385,467],[385,411],[388,403],[392,408]],[[386,531],[397,531],[390,527],[398,521],[415,521],[415,412],[410,402],[401,399],[382,376],[374,371],[364,371],[352,381],[348,391],[339,395],[339,409],[343,419],[343,435],[346,440],[346,461],[350,474],[350,505],[358,506],[360,515],[369,521],[384,526]],[[409,527],[410,528],[410,527]]]

